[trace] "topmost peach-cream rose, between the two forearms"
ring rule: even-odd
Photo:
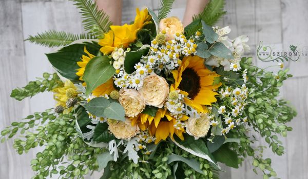
[[[166,31],[166,41],[175,39],[176,33],[184,33],[184,26],[178,17],[163,18],[159,22],[160,31]]]

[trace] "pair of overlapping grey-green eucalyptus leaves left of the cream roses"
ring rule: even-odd
[[[84,105],[87,111],[98,117],[125,121],[125,111],[118,101],[110,101],[105,97],[93,98]]]

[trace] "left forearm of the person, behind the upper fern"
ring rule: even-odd
[[[96,0],[96,2],[98,8],[109,15],[113,25],[121,25],[122,0]]]

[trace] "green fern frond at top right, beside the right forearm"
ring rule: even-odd
[[[185,27],[185,35],[194,35],[202,28],[201,20],[207,25],[213,26],[226,13],[223,11],[224,0],[211,0],[203,9],[203,11],[193,17],[192,23]]]

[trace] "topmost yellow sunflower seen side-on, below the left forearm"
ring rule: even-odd
[[[110,26],[109,32],[105,33],[104,38],[99,41],[99,45],[102,46],[101,52],[109,54],[114,51],[116,47],[127,48],[130,43],[136,41],[138,30],[150,23],[151,19],[147,9],[140,11],[139,8],[137,8],[136,13],[137,15],[133,24]]]

